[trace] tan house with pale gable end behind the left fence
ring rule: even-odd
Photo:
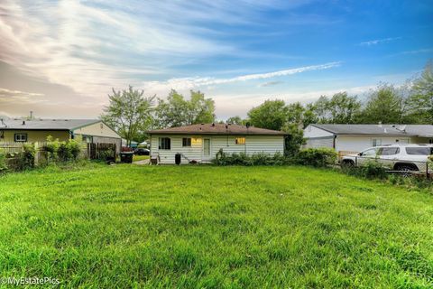
[[[99,119],[5,119],[0,120],[0,143],[67,141],[80,137],[87,143],[116,144],[120,150],[122,138]]]

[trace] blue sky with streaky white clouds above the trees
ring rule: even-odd
[[[433,59],[432,19],[432,1],[4,0],[0,115],[97,117],[129,84],[199,89],[222,119],[268,98],[363,96]]]

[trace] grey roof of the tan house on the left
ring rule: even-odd
[[[0,129],[14,130],[75,130],[100,122],[99,119],[4,119],[0,120]]]

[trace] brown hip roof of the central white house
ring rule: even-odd
[[[287,135],[284,132],[253,126],[226,124],[201,124],[155,129],[149,134],[161,135]]]

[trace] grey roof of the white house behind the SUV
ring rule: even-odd
[[[433,137],[431,125],[311,125],[335,135],[406,135]]]

